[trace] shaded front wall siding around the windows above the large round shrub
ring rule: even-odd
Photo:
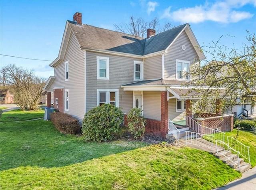
[[[109,80],[97,80],[96,56],[109,57]],[[134,61],[142,59],[86,51],[87,111],[97,106],[97,89],[119,89],[119,107],[124,113],[132,109],[133,92],[120,86],[134,82]]]

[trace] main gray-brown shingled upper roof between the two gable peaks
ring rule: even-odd
[[[102,49],[135,55],[146,55],[166,49],[186,24],[161,32],[149,39],[95,26],[76,25],[68,21],[81,48]]]

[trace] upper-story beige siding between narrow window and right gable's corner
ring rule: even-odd
[[[162,78],[162,55],[144,58],[144,79]]]

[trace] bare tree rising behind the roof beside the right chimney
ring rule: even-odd
[[[172,24],[169,22],[161,26],[157,17],[153,18],[150,22],[147,22],[141,17],[135,18],[130,16],[130,20],[125,24],[114,24],[117,31],[140,36],[144,38],[147,33],[147,29],[154,29],[157,33],[169,30],[172,28]]]

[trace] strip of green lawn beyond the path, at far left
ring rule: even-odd
[[[6,111],[2,114],[0,121],[24,121],[29,119],[36,119],[44,117],[44,110],[20,111],[19,109],[13,111]]]

